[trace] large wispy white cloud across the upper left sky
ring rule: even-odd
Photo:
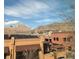
[[[22,17],[28,18],[33,16],[34,14],[38,14],[40,12],[48,11],[49,6],[41,1],[21,1],[14,6],[5,8],[5,15],[13,16],[13,17]]]

